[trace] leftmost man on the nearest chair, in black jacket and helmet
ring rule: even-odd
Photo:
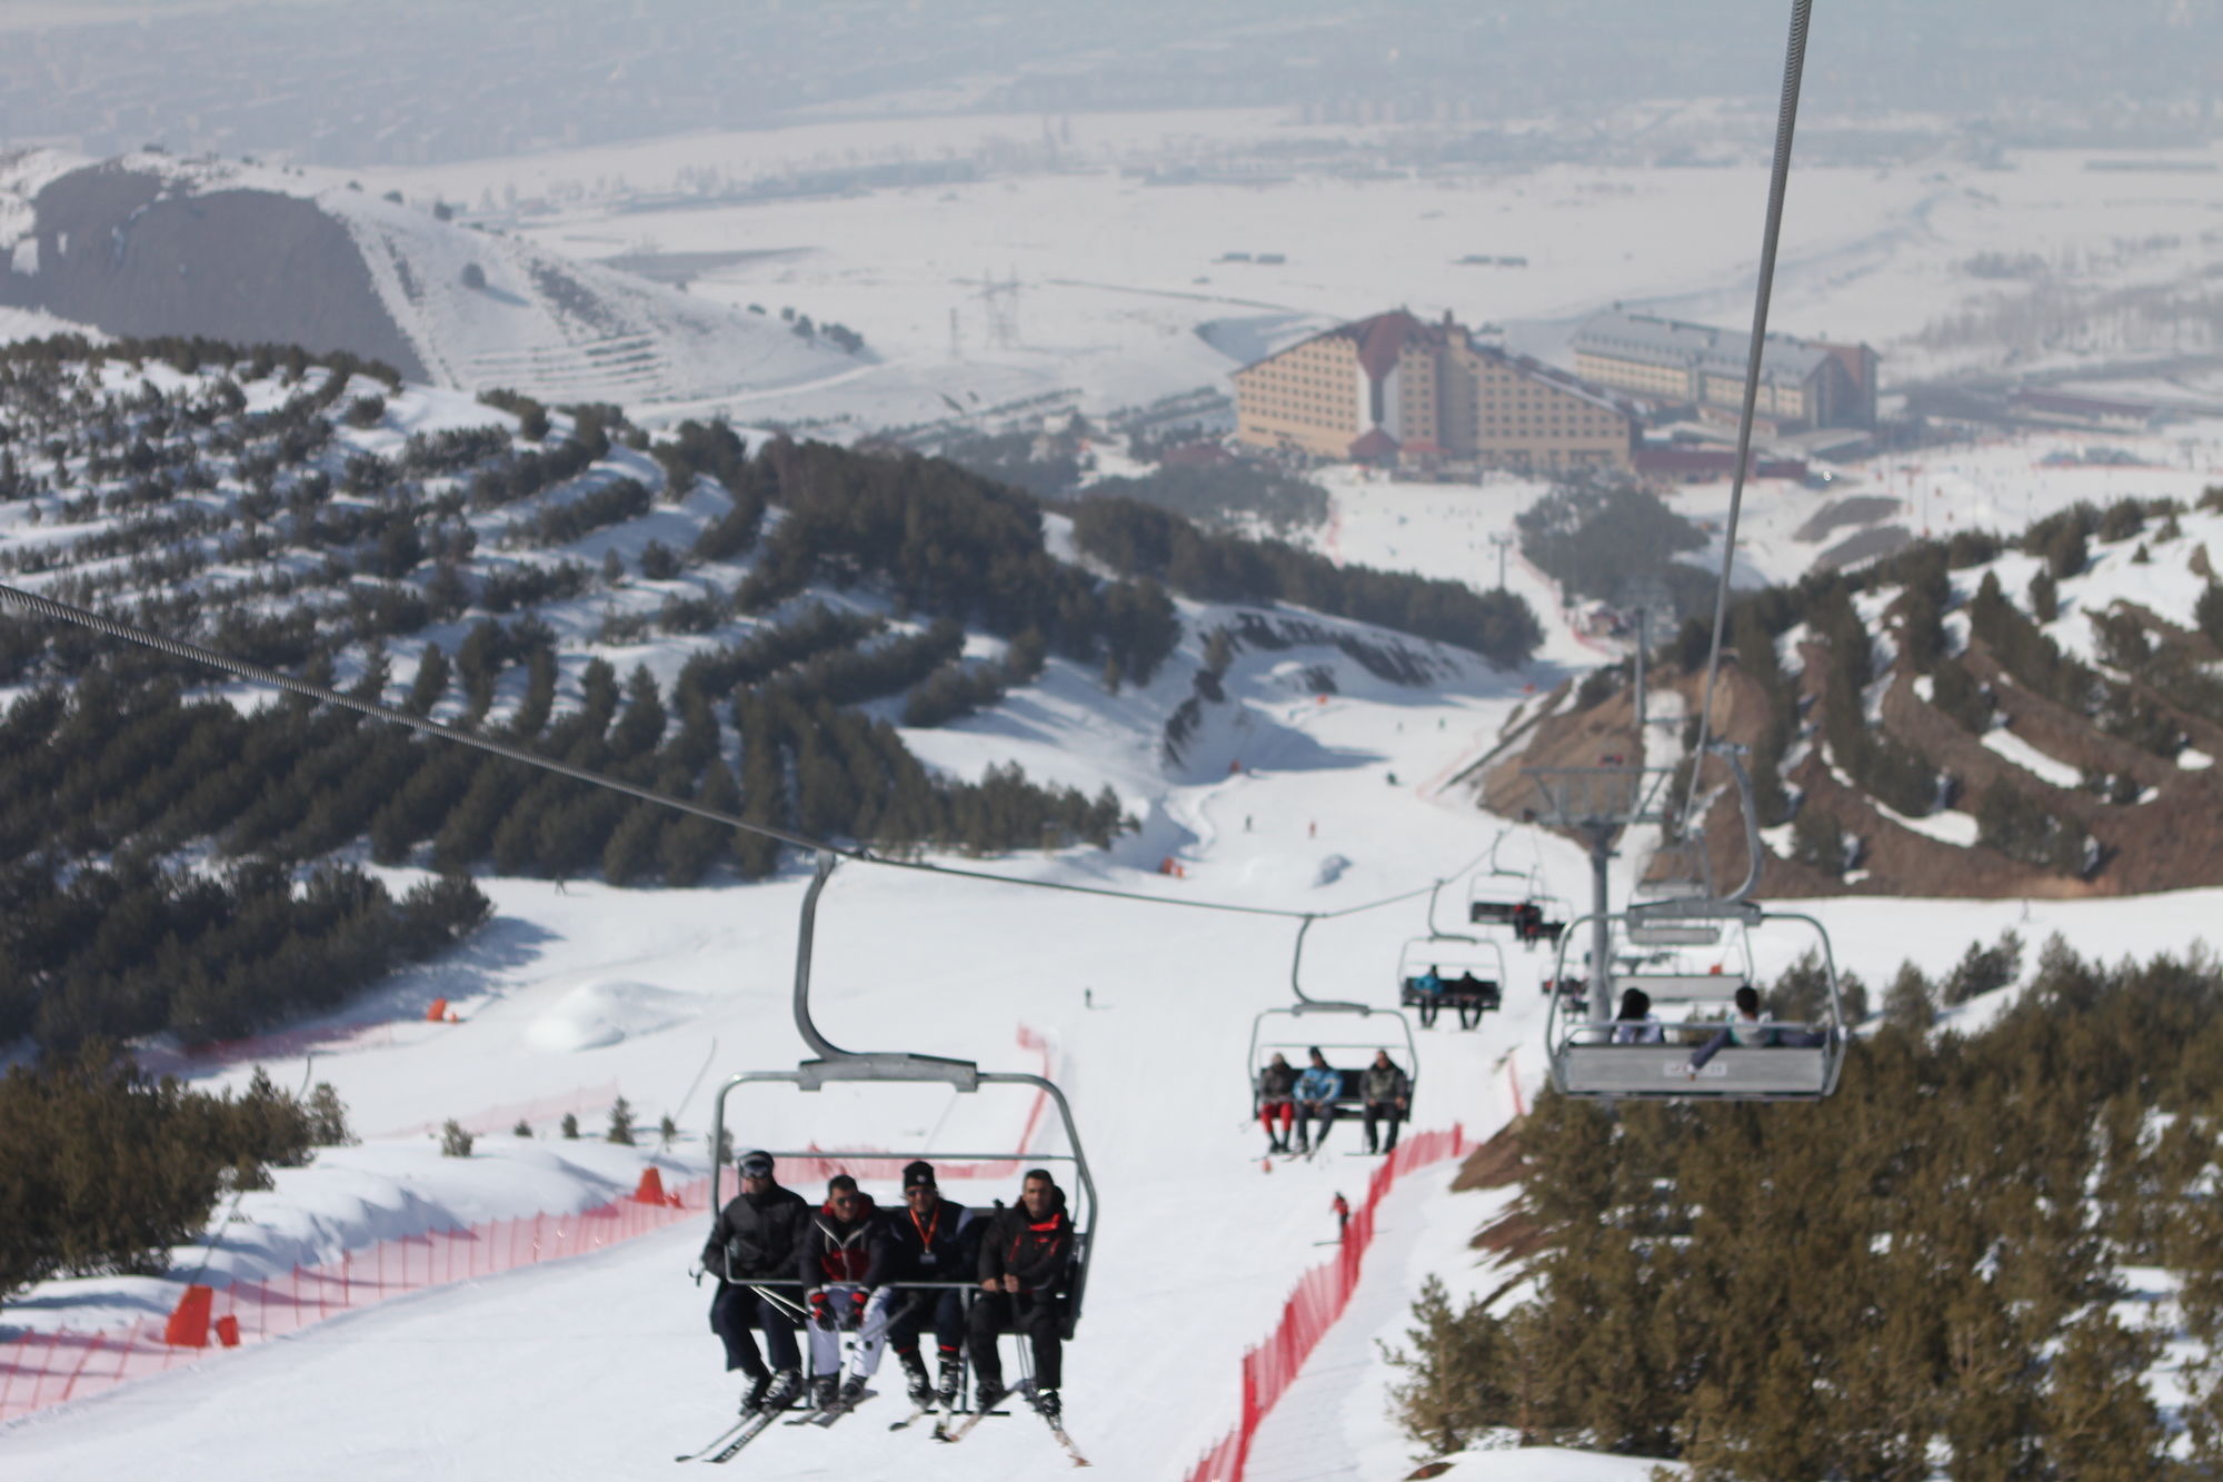
[[[740,1195],[718,1213],[709,1244],[702,1246],[702,1268],[718,1277],[718,1295],[709,1302],[709,1328],[725,1340],[727,1371],[740,1369],[749,1375],[749,1389],[740,1397],[742,1413],[778,1411],[803,1393],[796,1322],[767,1295],[780,1293],[778,1286],[760,1288],[751,1282],[794,1280],[811,1206],[771,1177],[769,1153],[742,1153],[736,1162]],[[778,1373],[767,1371],[756,1355],[751,1326],[765,1331],[765,1351]]]

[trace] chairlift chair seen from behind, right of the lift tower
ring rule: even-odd
[[[1687,915],[1678,917],[1678,912]],[[1747,935],[1781,928],[1814,932],[1827,986],[1821,1019],[1814,1024],[1767,1021],[1765,1028],[1785,1035],[1816,1035],[1818,1044],[1729,1046],[1692,1075],[1694,1050],[1723,1028],[1732,992],[1750,979],[1750,957],[1745,975],[1649,975],[1649,986],[1647,975],[1614,975],[1609,979],[1614,988],[1645,988],[1658,1001],[1721,1004],[1723,1017],[1663,1024],[1661,1044],[1614,1044],[1612,1001],[1601,1001],[1598,995],[1554,997],[1545,1041],[1552,1050],[1552,1086],[1561,1095],[1663,1101],[1818,1101],[1836,1090],[1845,1070],[1845,1010],[1838,997],[1830,932],[1821,921],[1801,912],[1772,912],[1756,901],[1658,901],[1636,912],[1618,912],[1609,921],[1627,930],[1632,917],[1649,923],[1712,919],[1718,926],[1734,921]],[[1587,921],[1589,917],[1576,928]],[[1567,941],[1576,935],[1569,930],[1567,937],[1561,937],[1561,979],[1567,975]]]

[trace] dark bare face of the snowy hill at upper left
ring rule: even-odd
[[[33,202],[36,251],[0,258],[0,303],[109,334],[349,349],[425,376],[353,238],[313,202],[165,191],[158,174],[122,165],[49,182]]]

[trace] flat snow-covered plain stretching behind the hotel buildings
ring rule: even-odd
[[[874,118],[376,180],[411,200],[478,202],[491,220],[580,258],[762,254],[705,265],[689,292],[838,318],[860,327],[885,365],[823,389],[751,396],[736,414],[854,429],[940,418],[945,396],[971,414],[1067,392],[1096,412],[1225,387],[1227,369],[1258,347],[1398,303],[1507,325],[1518,347],[1541,354],[1616,300],[1727,325],[1750,314],[1765,200],[1765,167],[1752,156],[1689,169],[1358,169],[1336,154],[1425,138],[1256,109]],[[2214,165],[2214,151],[2167,158]],[[1885,354],[1885,378],[1907,381],[2003,365],[2007,349],[1990,329],[1925,329],[1956,314],[1996,316],[2036,283],[2027,274],[2043,274],[2056,296],[2092,300],[2196,287],[2223,176],[2092,160],[2058,149],[2012,151],[1998,169],[1945,158],[1801,162],[1772,323],[1867,340]],[[978,178],[736,194],[871,165],[967,165]],[[1972,263],[1985,254],[2025,276],[1978,276]],[[1461,263],[1469,256],[1527,265]],[[2045,356],[2016,363],[2214,349],[2167,327],[2145,343],[2125,327],[2132,318],[2094,312]],[[2214,387],[2163,389],[2216,403]]]

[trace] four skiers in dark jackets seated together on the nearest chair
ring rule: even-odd
[[[782,1188],[769,1153],[738,1159],[740,1195],[702,1246],[718,1277],[709,1326],[725,1340],[727,1371],[742,1371],[740,1411],[780,1411],[805,1397],[796,1326],[809,1326],[811,1393],[818,1411],[847,1409],[894,1348],[905,1393],[925,1411],[951,1411],[971,1353],[974,1406],[994,1409],[1009,1391],[996,1335],[1023,1333],[1034,1353],[1034,1404],[1060,1417],[1060,1337],[1074,1264],[1065,1193],[1029,1168],[1018,1204],[991,1211],[945,1199],[934,1164],[903,1168],[903,1208],[883,1211],[847,1173],[827,1182],[825,1204]],[[969,1297],[969,1302],[967,1302]],[[929,1382],[920,1335],[931,1324],[940,1371]],[[765,1335],[765,1357],[751,1328]],[[849,1362],[840,1337],[854,1333]]]

